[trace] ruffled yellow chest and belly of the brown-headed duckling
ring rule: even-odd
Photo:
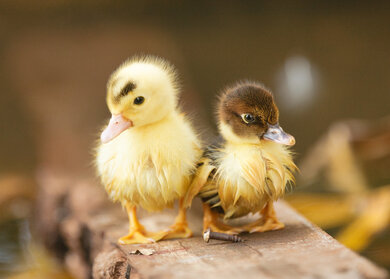
[[[284,193],[283,156],[267,146],[226,145],[216,159],[214,183],[227,215],[261,210],[270,199]]]

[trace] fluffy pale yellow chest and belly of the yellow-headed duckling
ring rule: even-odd
[[[196,160],[192,138],[131,130],[101,145],[97,154],[98,172],[110,198],[152,211],[184,196]]]

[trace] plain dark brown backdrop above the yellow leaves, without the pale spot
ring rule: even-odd
[[[109,116],[108,75],[135,53],[178,67],[183,103],[203,128],[215,127],[215,95],[237,79],[262,81],[282,103],[278,73],[305,57],[319,77],[315,98],[281,107],[298,154],[335,120],[389,113],[385,3],[19,0],[2,1],[0,16],[2,171],[37,163],[83,171]]]

